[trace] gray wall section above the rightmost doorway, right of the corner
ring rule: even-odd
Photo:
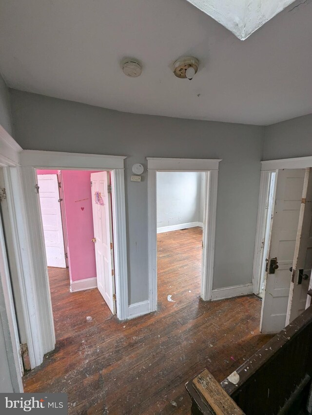
[[[312,156],[312,114],[265,127],[263,160]]]

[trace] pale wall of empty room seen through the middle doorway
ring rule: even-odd
[[[157,172],[157,228],[203,222],[204,176],[195,171]]]

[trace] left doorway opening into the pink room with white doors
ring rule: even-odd
[[[116,314],[111,172],[37,169],[37,178],[59,340],[68,325],[94,318],[90,303]]]

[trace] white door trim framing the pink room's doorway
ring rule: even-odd
[[[126,214],[123,156],[101,156],[50,151],[24,150],[20,154],[22,180],[25,197],[26,227],[30,236],[30,251],[37,286],[41,341],[43,353],[54,349],[55,333],[49,281],[44,250],[43,230],[39,214],[39,195],[35,189],[37,168],[58,168],[77,170],[111,170],[114,177],[114,245],[116,261],[117,317],[128,318],[128,276],[126,245]],[[114,212],[114,210],[113,210]],[[43,358],[43,354],[42,357]]]

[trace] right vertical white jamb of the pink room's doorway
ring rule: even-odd
[[[112,210],[116,307],[119,320],[128,318],[127,238],[124,169],[112,170]]]

